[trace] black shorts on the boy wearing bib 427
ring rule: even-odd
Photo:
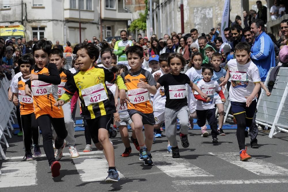
[[[101,117],[97,117],[95,119],[86,119],[87,126],[89,128],[89,132],[93,143],[98,143],[98,130],[100,128],[104,128],[107,131],[110,129],[111,115],[103,115]]]

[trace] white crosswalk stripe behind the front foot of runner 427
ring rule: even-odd
[[[109,166],[104,155],[80,156],[73,159],[73,162],[83,182],[102,181],[108,175]],[[118,173],[121,179],[125,178]]]

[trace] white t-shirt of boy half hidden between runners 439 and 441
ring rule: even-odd
[[[161,73],[160,77],[162,77],[163,75],[165,75],[163,73],[163,71],[160,69],[158,71],[155,71],[152,75],[154,77],[154,75],[156,73]],[[164,87],[161,86],[156,94],[154,94],[153,97],[153,111],[164,111],[165,110],[165,102],[166,102],[166,96],[165,96],[165,90]]]

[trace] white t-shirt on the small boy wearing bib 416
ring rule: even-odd
[[[206,109],[213,109],[215,108],[215,99],[214,94],[216,91],[220,91],[221,88],[219,87],[219,84],[217,81],[210,80],[209,82],[204,81],[201,79],[199,83],[197,84],[197,87],[210,97],[210,101],[204,102],[197,100],[196,101],[196,109],[197,110],[206,110]],[[197,91],[194,93],[195,95],[199,95]]]

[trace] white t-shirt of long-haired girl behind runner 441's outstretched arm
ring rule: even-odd
[[[202,78],[202,69],[195,69],[194,67],[191,67],[186,71],[186,75],[189,77],[189,79],[197,84]],[[188,94],[187,94],[187,101],[188,101],[188,107],[190,109],[190,112],[193,113],[196,109],[196,99],[194,97],[194,93],[192,92],[192,88],[190,86],[187,86]]]

